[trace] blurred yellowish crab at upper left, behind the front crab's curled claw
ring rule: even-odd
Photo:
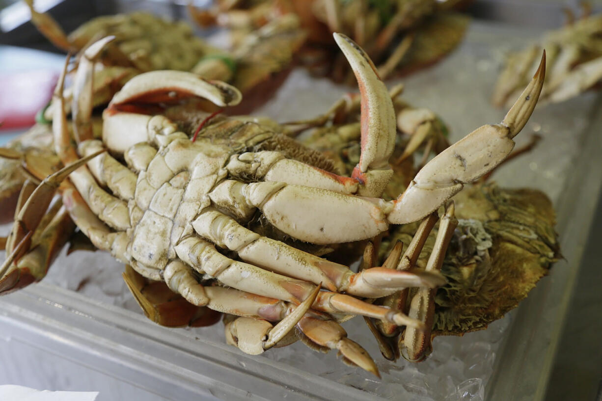
[[[192,71],[203,78],[235,85],[244,93],[245,101],[230,112],[248,113],[267,101],[284,82],[294,65],[294,53],[305,38],[297,18],[289,15],[249,32],[226,51],[195,36],[185,22],[171,22],[144,12],[97,17],[67,36],[51,16],[35,10],[33,0],[26,3],[41,33],[58,48],[78,54],[75,73],[85,73],[87,79],[78,79],[82,86],[68,87],[65,96],[68,100],[79,99],[67,102],[67,112],[71,104],[75,105],[74,118],[80,120],[90,118],[79,116],[79,110],[90,110],[84,102],[104,107],[133,76],[166,69]],[[109,36],[114,39],[102,46],[102,51],[89,49],[96,40]],[[97,68],[92,71],[90,63],[96,63]],[[91,87],[92,97],[88,95]],[[53,115],[51,105],[44,116],[51,120]]]

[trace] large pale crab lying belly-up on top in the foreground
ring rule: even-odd
[[[444,284],[437,270],[450,231],[439,230],[446,234],[426,271],[370,267],[353,273],[289,243],[366,240],[390,225],[431,215],[510,153],[512,137],[535,108],[545,58],[503,122],[477,128],[441,152],[397,199],[385,201],[380,195],[393,173],[388,164],[396,136],[393,104],[365,52],[342,34],[335,34],[335,40],[361,92],[361,157],[351,177],[320,169],[323,156],[279,134],[273,123],[200,110],[204,102],[196,98],[226,107],[240,101],[240,92],[224,82],[176,71],[147,72],[128,81],[104,111],[103,140],[78,138],[78,154],[62,110],[63,73],[55,92],[59,106],[53,131],[55,150],[66,167],[20,202],[8,238],[9,256],[0,268],[0,288],[10,291],[40,278],[23,262],[38,249],[36,228],[53,234],[55,220],[63,221],[68,212],[96,247],[144,278],[164,282],[193,305],[239,316],[228,330],[244,351],[258,353],[287,341],[297,327],[314,343],[337,348],[377,374],[371,358],[346,338],[337,321],[359,314],[426,332],[424,319],[361,298],[407,287],[424,288],[432,297],[433,288]],[[184,104],[156,114],[160,104],[174,101]],[[69,181],[63,181],[67,176]],[[59,186],[64,207],[45,215]],[[453,226],[452,204],[443,220]],[[290,241],[249,229],[258,221]],[[398,256],[392,252],[388,265],[397,264]],[[411,309],[413,313],[417,311]]]

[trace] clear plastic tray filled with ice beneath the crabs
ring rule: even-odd
[[[403,79],[403,99],[438,113],[452,141],[500,122],[506,110],[493,108],[489,97],[504,51],[523,48],[540,33],[473,22],[450,57]],[[349,90],[295,70],[255,114],[282,122],[312,117]],[[334,352],[316,353],[302,343],[250,356],[225,344],[221,323],[155,325],[121,281],[122,264],[101,252],[63,255],[44,281],[0,297],[0,336],[174,400],[543,399],[602,184],[601,104],[599,95],[586,93],[538,105],[516,140],[524,145],[537,132],[539,145],[494,175],[500,186],[538,188],[550,197],[564,259],[504,319],[464,337],[435,338],[432,356],[420,364],[383,360],[362,319],[345,323],[349,337],[377,360],[380,381],[347,367]]]

